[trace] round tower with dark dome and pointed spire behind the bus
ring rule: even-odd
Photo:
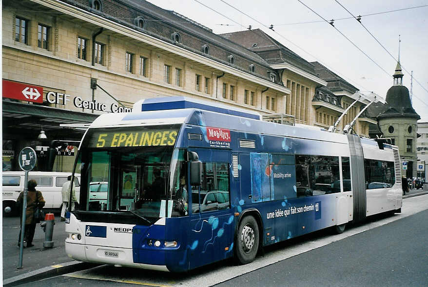
[[[401,174],[407,178],[416,176],[416,130],[417,121],[421,118],[413,109],[409,89],[403,86],[403,73],[398,58],[394,85],[387,92],[385,110],[377,116],[379,127],[384,137],[391,138],[400,151]],[[404,164],[406,163],[406,164]]]

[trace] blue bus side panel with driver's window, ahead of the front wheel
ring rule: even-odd
[[[233,213],[230,204],[230,151],[195,148],[202,162],[201,185],[192,188],[190,268],[230,257]]]

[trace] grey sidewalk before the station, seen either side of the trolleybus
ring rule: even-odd
[[[403,198],[428,193],[428,184],[423,189],[412,189]],[[65,223],[55,216],[54,247],[43,248],[45,238],[40,224],[36,226],[34,247],[24,248],[22,269],[19,263],[19,217],[3,218],[3,285],[14,286],[42,278],[53,277],[96,266],[94,264],[73,261],[65,254]]]

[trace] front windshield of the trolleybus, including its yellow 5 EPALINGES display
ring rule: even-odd
[[[134,214],[147,224],[161,217],[187,215],[187,192],[182,192],[187,164],[184,149],[174,149],[178,129],[89,130],[76,164],[75,172],[81,173],[76,210],[110,217],[112,213]]]

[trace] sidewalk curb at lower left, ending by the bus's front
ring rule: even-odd
[[[34,271],[27,272],[25,274],[5,279],[3,280],[3,286],[17,286],[36,280],[46,279],[70,272],[76,272],[83,269],[92,268],[94,266],[98,266],[98,264],[80,261],[65,262],[58,265],[43,267]]]

